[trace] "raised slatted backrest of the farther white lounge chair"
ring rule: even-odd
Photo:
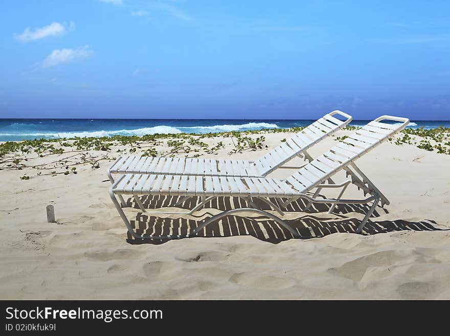
[[[334,118],[333,115],[336,114],[343,116],[346,120]],[[332,111],[314,121],[308,127],[303,128],[295,136],[286,140],[286,142],[282,142],[279,146],[261,156],[254,164],[261,175],[265,176],[285,162],[290,161],[301,151],[308,149],[323,138],[345,127],[351,120],[351,116],[340,110]]]

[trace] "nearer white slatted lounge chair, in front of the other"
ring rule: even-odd
[[[381,123],[380,121],[382,120],[398,121],[400,124]],[[381,194],[373,183],[370,182],[369,178],[356,167],[354,162],[381,142],[392,137],[395,133],[406,127],[408,123],[409,120],[406,118],[381,116],[374,121],[369,122],[366,126],[357,129],[343,142],[338,143],[333,148],[320,155],[317,159],[312,160],[286,180],[267,177],[124,174],[118,178],[113,186],[111,186],[109,194],[130,234],[135,238],[141,239],[176,239],[182,237],[170,235],[145,235],[134,232],[116,199],[116,195],[133,195],[143,212],[146,210],[139,201],[138,195],[202,197],[204,200],[192,209],[190,213],[198,210],[212,198],[219,196],[244,197],[247,199],[248,204],[253,207],[228,210],[214,215],[202,222],[201,225],[188,234],[188,236],[195,235],[209,223],[221,217],[242,212],[253,212],[277,221],[281,226],[289,230],[294,237],[299,237],[299,233],[288,226],[280,217],[257,209],[252,202],[252,198],[259,198],[271,205],[271,207],[280,215],[283,215],[282,210],[267,198],[287,198],[284,205],[287,205],[292,200],[304,198],[309,201],[308,206],[311,203],[322,203],[332,204],[332,208],[336,204],[367,204],[370,201],[373,201],[372,206],[356,230],[356,232],[359,233],[366,225],[367,220],[373,213],[379,201],[381,201],[382,206],[384,204],[389,204],[389,201]],[[351,181],[340,185],[325,184],[332,175],[342,169],[346,170],[347,176],[351,175]],[[345,187],[350,182],[355,184],[358,188],[362,188],[365,195],[369,193],[371,196],[366,199],[341,199]],[[336,187],[343,187],[338,198],[316,198],[322,188]],[[306,194],[316,188],[317,190],[312,197]],[[330,211],[332,211],[332,208]]]

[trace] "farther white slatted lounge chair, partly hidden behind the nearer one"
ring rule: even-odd
[[[345,120],[334,118],[341,115]],[[149,156],[125,155],[119,156],[107,170],[109,181],[114,183],[114,173],[140,174],[171,174],[171,175],[200,175],[200,176],[241,176],[260,177],[281,167],[295,156],[303,155],[311,161],[307,150],[327,136],[345,127],[352,117],[335,110],[305,127],[295,136],[282,142],[255,162],[246,160],[215,160],[198,158],[152,158]],[[292,168],[292,167],[285,167]],[[300,167],[293,167],[300,168]],[[126,203],[119,195],[122,207]]]

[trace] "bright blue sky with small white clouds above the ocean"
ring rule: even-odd
[[[450,2],[4,0],[0,117],[450,119]]]

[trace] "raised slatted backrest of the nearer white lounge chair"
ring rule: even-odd
[[[392,120],[400,123],[381,123],[381,120]],[[324,183],[335,172],[347,167],[354,160],[392,137],[408,124],[409,119],[407,118],[381,116],[357,129],[348,138],[300,168],[286,181],[299,192],[306,192]]]

